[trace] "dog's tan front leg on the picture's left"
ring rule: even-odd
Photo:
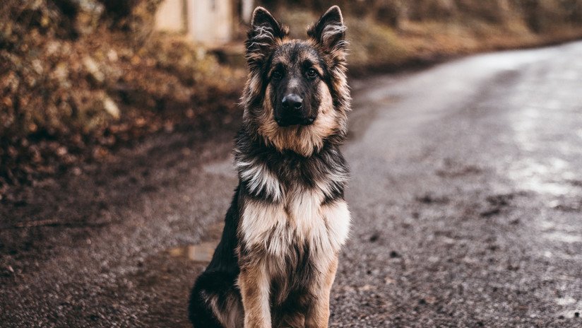
[[[241,266],[239,288],[244,307],[244,327],[271,328],[271,286],[262,261]]]

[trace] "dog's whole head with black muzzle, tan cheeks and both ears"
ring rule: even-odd
[[[249,80],[243,95],[247,127],[279,151],[311,156],[325,140],[345,138],[350,90],[346,83],[345,25],[333,6],[290,40],[288,29],[256,8],[247,46]]]

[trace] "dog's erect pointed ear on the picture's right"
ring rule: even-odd
[[[343,16],[340,7],[332,6],[319,18],[319,21],[311,25],[307,35],[312,37],[325,51],[345,48],[345,30]]]

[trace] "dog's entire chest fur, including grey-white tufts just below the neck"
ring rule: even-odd
[[[237,161],[237,168],[249,194],[256,196],[242,206],[239,236],[247,247],[283,261],[298,250],[308,250],[316,262],[337,254],[350,229],[350,212],[337,190],[343,195],[348,176],[343,165],[273,170],[255,158]]]

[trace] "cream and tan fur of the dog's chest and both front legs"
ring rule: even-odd
[[[284,327],[303,327],[296,324],[304,320],[304,327],[327,327],[329,295],[338,266],[338,252],[348,238],[350,212],[345,201],[321,205],[323,198],[321,189],[299,189],[285,192],[285,201],[278,204],[245,201],[242,238],[252,255],[249,264],[242,266],[239,276],[244,327],[264,327],[263,324],[271,320],[270,282],[285,274],[287,252],[292,251],[292,243],[297,241],[310,245],[310,257],[319,273],[312,281],[311,295],[316,298],[309,307],[307,319],[295,314],[284,319],[289,324]],[[285,295],[279,295],[278,301]]]

